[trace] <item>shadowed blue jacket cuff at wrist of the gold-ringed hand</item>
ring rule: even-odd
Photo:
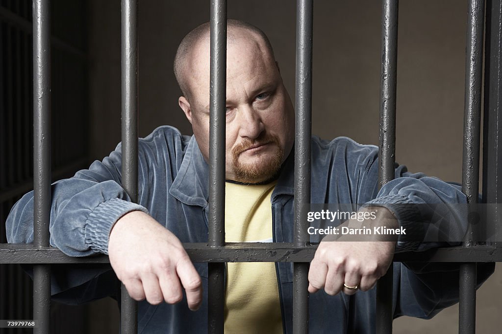
[[[417,205],[402,195],[386,195],[367,202],[365,206],[383,206],[389,209],[406,234],[399,234],[396,253],[417,250],[425,236],[422,214]]]

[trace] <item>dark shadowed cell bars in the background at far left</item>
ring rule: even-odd
[[[72,176],[88,166],[84,1],[52,6],[52,179]],[[0,2],[0,243],[7,242],[5,224],[10,208],[33,189],[33,8],[31,0]],[[65,19],[72,20],[68,28]],[[69,89],[71,88],[71,89]],[[64,92],[64,93],[63,93]],[[72,112],[69,113],[68,110]],[[78,123],[78,128],[68,124]],[[70,134],[70,143],[63,138]],[[0,248],[3,248],[0,246]],[[0,265],[0,319],[33,318],[33,282],[18,264]],[[51,314],[51,332],[68,331],[82,323],[85,306],[58,304]],[[69,319],[72,319],[71,321]],[[0,333],[27,332],[0,328]]]

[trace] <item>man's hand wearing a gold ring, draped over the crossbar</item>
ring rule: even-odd
[[[394,215],[384,207],[365,208],[376,213],[376,219],[364,222],[348,220],[341,226],[359,228],[366,226],[398,226]],[[387,236],[388,237],[388,236]],[[350,236],[354,240],[354,236]],[[371,241],[343,241],[344,236],[328,235],[323,238],[316,250],[309,269],[309,292],[324,288],[327,294],[335,295],[340,291],[354,294],[358,289],[367,291],[382,277],[392,263],[397,236],[393,241],[380,241],[378,236],[371,235]],[[345,238],[347,239],[347,238]],[[361,240],[361,238],[359,238]],[[387,238],[388,240],[388,238]],[[356,287],[356,288],[347,288]]]

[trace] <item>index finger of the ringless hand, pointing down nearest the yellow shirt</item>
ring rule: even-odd
[[[176,272],[185,288],[188,308],[193,311],[197,310],[202,302],[202,280],[188,255],[179,260]]]

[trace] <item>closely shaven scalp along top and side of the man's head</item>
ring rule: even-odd
[[[190,100],[191,89],[187,78],[187,71],[191,70],[191,61],[194,60],[194,53],[201,47],[208,48],[210,36],[210,23],[206,22],[192,30],[181,41],[176,57],[174,59],[174,75],[178,81],[181,92]],[[263,49],[264,53],[274,59],[272,45],[263,31],[248,23],[228,20],[227,21],[227,45],[232,45],[236,40],[255,40]]]

